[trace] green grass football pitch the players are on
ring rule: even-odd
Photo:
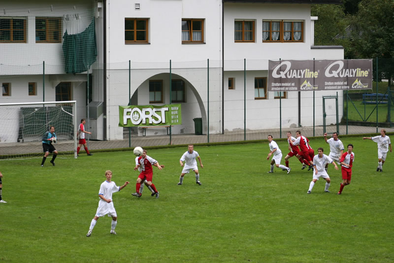
[[[378,173],[376,143],[342,141],[355,152],[342,195],[332,165],[331,193],[320,180],[306,194],[312,174],[294,157],[289,175],[268,174],[267,142],[195,146],[202,186],[192,175],[177,185],[187,147],[148,150],[165,164],[154,168],[159,199],[148,189],[131,196],[138,176],[131,150],[58,158],[56,166],[47,160],[43,168],[40,159],[1,161],[8,203],[0,204],[0,262],[394,262],[394,153]],[[286,141],[277,142],[286,155]],[[329,153],[323,138],[311,145]],[[88,238],[107,169],[118,186],[131,182],[113,194],[118,234],[104,217]]]

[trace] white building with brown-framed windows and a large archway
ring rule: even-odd
[[[118,106],[129,100],[170,103],[170,61],[172,103],[182,105],[182,125],[173,126],[173,134],[194,133],[196,117],[202,118],[204,134],[243,129],[244,105],[247,129],[311,126],[313,92],[282,93],[279,99],[279,93],[266,91],[268,60],[343,59],[342,47],[314,46],[311,3],[339,0],[9,1],[0,6],[0,20],[22,21],[24,33],[21,40],[11,28],[17,38],[8,39],[0,29],[0,82],[10,89],[0,102],[42,101],[44,83],[45,101],[76,100],[77,118],[86,117],[87,72],[66,74],[62,36],[66,30],[83,32],[94,18],[97,59],[89,73],[95,103],[89,113],[96,139],[123,139]],[[43,33],[38,22],[55,23],[57,30]],[[32,85],[35,95],[29,94]],[[335,93],[316,92],[316,125],[323,124],[324,95]]]

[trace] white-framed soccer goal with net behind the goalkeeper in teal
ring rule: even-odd
[[[55,127],[58,157],[77,156],[76,101],[1,103],[0,159],[42,157],[42,136]]]

